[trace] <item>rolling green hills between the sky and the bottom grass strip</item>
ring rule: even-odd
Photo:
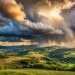
[[[1,49],[0,68],[75,70],[75,48]]]

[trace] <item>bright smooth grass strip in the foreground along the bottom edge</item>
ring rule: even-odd
[[[75,75],[69,71],[50,71],[40,69],[21,69],[21,70],[0,70],[0,75]]]

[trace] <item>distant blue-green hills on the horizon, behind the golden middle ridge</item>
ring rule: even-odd
[[[51,57],[55,60],[58,60],[60,62],[64,63],[72,63],[75,64],[75,48],[65,48],[65,47],[46,47],[46,48],[31,48],[28,49],[26,47],[10,47],[3,49],[1,47],[0,53],[5,53],[9,55],[16,55],[16,56],[30,56],[31,54],[41,54],[45,57]],[[12,48],[12,49],[11,49]]]

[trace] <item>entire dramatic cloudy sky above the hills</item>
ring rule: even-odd
[[[75,47],[75,0],[0,0],[3,45]]]

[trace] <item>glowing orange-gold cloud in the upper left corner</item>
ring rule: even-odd
[[[0,12],[16,21],[23,21],[26,17],[22,6],[15,0],[0,0]]]

